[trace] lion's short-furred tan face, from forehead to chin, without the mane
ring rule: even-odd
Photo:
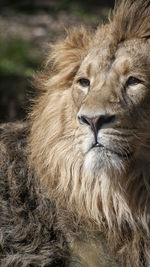
[[[141,153],[149,135],[148,53],[149,44],[132,40],[120,44],[113,58],[109,46],[101,45],[81,63],[72,95],[78,107],[75,138],[86,168],[119,169]]]

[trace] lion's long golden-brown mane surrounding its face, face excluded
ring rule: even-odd
[[[108,163],[98,175],[86,171],[76,143],[79,107],[70,89],[82,61],[101,40],[109,46],[110,59],[121,42],[149,38],[149,1],[121,1],[116,6],[110,22],[96,33],[75,28],[51,46],[45,69],[35,79],[40,96],[30,115],[30,162],[48,197],[76,214],[83,225],[86,221],[87,231],[104,231],[126,266],[144,266],[142,258],[150,258],[148,143],[143,139],[143,151],[134,160]]]

